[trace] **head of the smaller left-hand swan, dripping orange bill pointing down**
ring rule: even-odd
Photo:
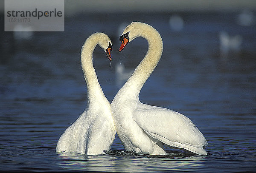
[[[112,42],[107,34],[100,33],[99,47],[101,47],[107,54],[108,60],[112,61],[110,52],[112,51]]]

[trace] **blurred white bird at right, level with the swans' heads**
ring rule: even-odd
[[[221,31],[219,34],[220,51],[222,55],[227,55],[230,52],[239,52],[243,37],[241,35],[230,36],[225,31]]]

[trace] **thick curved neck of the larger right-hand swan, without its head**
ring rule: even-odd
[[[151,26],[144,25],[141,31],[140,37],[148,41],[147,54],[122,87],[129,91],[134,91],[130,93],[134,93],[135,97],[139,96],[141,88],[154,71],[154,68],[156,68],[163,52],[163,40],[157,30]]]

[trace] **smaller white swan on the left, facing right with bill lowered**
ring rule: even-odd
[[[67,128],[58,140],[56,152],[102,154],[109,150],[115,138],[110,103],[99,85],[93,68],[93,51],[96,45],[106,52],[111,61],[111,40],[104,33],[94,33],[81,49],[81,65],[87,84],[87,107],[76,122]]]

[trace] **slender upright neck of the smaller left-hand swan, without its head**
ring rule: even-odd
[[[98,34],[92,34],[84,42],[81,49],[81,66],[87,84],[87,102],[90,102],[92,99],[97,99],[97,101],[101,99],[106,100],[102,88],[99,85],[95,69],[93,68],[93,51],[99,43],[99,39]]]

